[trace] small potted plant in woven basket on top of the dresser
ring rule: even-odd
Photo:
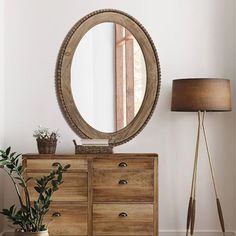
[[[55,154],[57,139],[60,137],[58,131],[39,126],[33,137],[36,138],[39,154]]]

